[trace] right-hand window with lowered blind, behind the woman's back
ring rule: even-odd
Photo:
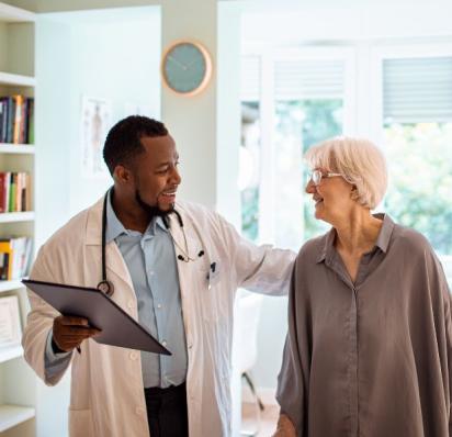
[[[386,211],[452,255],[452,56],[383,59]]]

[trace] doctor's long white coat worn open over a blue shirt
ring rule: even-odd
[[[230,351],[233,311],[238,287],[269,294],[285,294],[292,262],[290,250],[257,247],[242,239],[218,214],[191,203],[178,203],[189,254],[178,260],[183,322],[188,346],[187,396],[190,437],[229,437]],[[41,248],[31,277],[48,282],[95,287],[101,279],[102,200],[61,227]],[[171,233],[184,248],[182,229],[171,214]],[[176,254],[181,254],[174,246]],[[204,256],[197,257],[200,250]],[[206,279],[210,265],[216,276]],[[132,280],[114,242],[106,246],[106,274],[113,300],[137,320]],[[45,344],[58,313],[30,292],[32,311],[23,336],[25,359],[48,385],[64,371],[46,379]],[[147,437],[140,354],[136,350],[82,343],[71,357],[69,433],[71,437]],[[150,436],[151,437],[151,436]]]

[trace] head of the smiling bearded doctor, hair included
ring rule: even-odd
[[[103,157],[114,179],[113,208],[122,218],[143,225],[173,210],[179,155],[163,123],[140,115],[121,120],[106,136]]]

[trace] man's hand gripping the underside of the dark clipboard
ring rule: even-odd
[[[65,352],[80,346],[81,341],[99,334],[101,329],[89,325],[88,320],[60,315],[54,320],[54,341]]]

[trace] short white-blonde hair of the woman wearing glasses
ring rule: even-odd
[[[310,147],[304,158],[313,169],[341,173],[365,208],[375,209],[386,192],[386,160],[369,139],[338,136]]]

